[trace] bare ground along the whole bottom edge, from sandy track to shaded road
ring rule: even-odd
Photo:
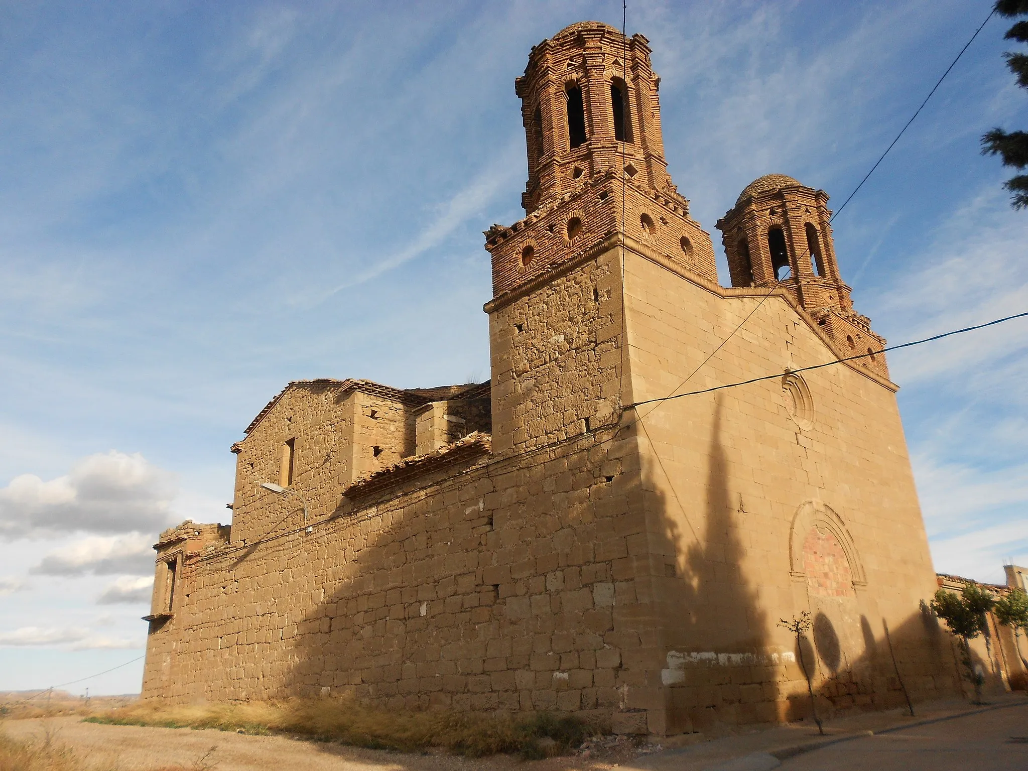
[[[721,736],[691,734],[660,740],[663,743],[647,743],[629,737],[602,737],[591,741],[591,745],[576,755],[550,758],[543,761],[522,761],[513,756],[492,756],[489,758],[462,758],[444,752],[424,755],[403,754],[389,750],[362,749],[332,742],[317,742],[306,738],[289,736],[253,736],[217,730],[191,730],[170,728],[144,728],[139,726],[111,726],[82,723],[82,714],[58,714],[54,717],[25,717],[0,721],[0,731],[15,739],[51,741],[71,746],[84,763],[84,768],[97,771],[157,771],[168,767],[179,767],[189,771],[686,771],[687,769],[750,768],[738,765],[762,755],[765,760],[783,747],[792,747],[811,741],[819,742],[833,737],[850,737],[874,734],[874,742],[850,741],[836,749],[821,749],[811,752],[809,758],[828,759],[834,752],[842,752],[847,759],[864,757],[866,763],[856,760],[855,765],[841,765],[840,768],[959,768],[961,766],[939,765],[942,755],[918,752],[907,755],[908,760],[924,761],[928,765],[903,765],[902,752],[893,751],[901,743],[910,744],[924,731],[938,733],[940,737],[952,739],[959,749],[963,741],[985,740],[984,734],[976,726],[997,727],[995,742],[1002,746],[992,754],[998,766],[985,764],[982,771],[993,768],[1021,768],[1004,766],[1004,761],[1024,763],[1020,747],[1011,755],[1011,747],[1022,740],[1024,731],[1020,725],[1028,713],[1025,695],[1005,694],[990,699],[992,706],[975,707],[961,699],[950,699],[924,703],[917,706],[918,714],[912,718],[905,709],[884,712],[857,712],[840,715],[825,722],[824,733],[820,737],[816,728],[808,723],[780,726],[740,726],[726,731]],[[997,709],[1002,712],[995,711]],[[981,717],[977,717],[982,712]],[[953,720],[951,720],[953,719]],[[917,733],[908,733],[910,728],[919,728],[927,720],[931,726]],[[942,723],[937,723],[944,720]],[[1012,722],[1013,721],[1013,722]],[[966,726],[966,730],[961,727]],[[998,728],[998,727],[1002,728]],[[958,730],[960,729],[960,730]],[[1016,729],[1016,730],[1015,730]],[[900,733],[892,733],[896,732]],[[961,733],[962,731],[962,733]],[[879,734],[890,734],[894,739],[881,739]],[[903,734],[903,735],[901,735]],[[1000,735],[1001,734],[1001,735]],[[1014,737],[1011,739],[1009,737]],[[995,738],[995,737],[992,737]],[[1001,742],[999,740],[1002,740]],[[1009,740],[1009,741],[1007,741]],[[1013,742],[1013,743],[1011,743]],[[997,744],[998,746],[998,744]],[[911,748],[913,745],[911,744]],[[859,751],[857,751],[859,750]],[[873,751],[872,751],[873,750]],[[883,752],[883,750],[885,750]],[[989,750],[992,751],[992,750]],[[754,755],[757,754],[757,755]],[[790,754],[792,755],[792,754]],[[866,757],[865,757],[866,756]],[[988,752],[986,754],[988,756]],[[841,757],[841,756],[840,756]],[[955,756],[954,756],[955,757]],[[985,757],[985,756],[983,756]],[[990,756],[991,757],[991,756]],[[785,761],[783,768],[820,768],[809,765],[806,756]],[[838,760],[833,758],[833,760]],[[889,765],[897,762],[900,765]],[[777,761],[773,761],[777,766]],[[793,765],[790,765],[793,764]],[[772,765],[762,768],[772,768]],[[835,767],[831,763],[822,766]],[[966,766],[966,767],[978,767]],[[756,767],[755,767],[756,768]]]

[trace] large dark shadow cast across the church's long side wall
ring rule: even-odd
[[[281,695],[579,711],[610,726],[645,669],[630,445],[498,461],[361,501],[343,535],[308,547],[308,583],[325,596],[297,624]]]

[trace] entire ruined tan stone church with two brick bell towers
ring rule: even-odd
[[[155,546],[145,699],[661,735],[802,717],[805,674],[828,709],[958,692],[897,386],[829,196],[746,186],[717,222],[722,286],[659,84],[647,39],[604,24],[531,49],[525,216],[485,231],[489,380],[271,399],[231,448],[231,525]],[[798,642],[779,620],[804,612]]]

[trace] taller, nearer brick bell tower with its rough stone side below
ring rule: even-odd
[[[515,80],[526,216],[484,233],[494,452],[573,435],[624,403],[613,386],[623,380],[620,267],[590,264],[626,238],[717,284],[710,236],[667,173],[659,85],[648,40],[599,22],[536,45]]]

